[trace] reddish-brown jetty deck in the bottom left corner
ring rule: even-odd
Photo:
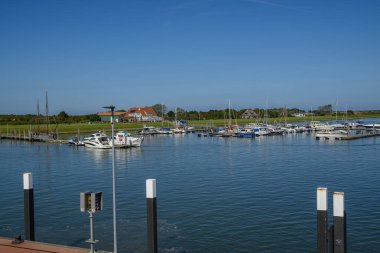
[[[88,253],[89,249],[0,237],[0,252],[6,253]],[[107,253],[106,251],[97,251]],[[109,252],[108,252],[109,253]]]

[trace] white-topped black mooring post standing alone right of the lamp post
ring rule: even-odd
[[[156,179],[146,180],[148,253],[157,253],[157,194]]]

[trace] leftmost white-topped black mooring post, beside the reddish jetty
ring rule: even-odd
[[[23,179],[25,240],[34,241],[34,193],[32,173],[24,173]]]

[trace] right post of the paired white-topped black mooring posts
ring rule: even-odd
[[[334,253],[346,253],[344,193],[334,192]]]

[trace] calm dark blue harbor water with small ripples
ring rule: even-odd
[[[379,137],[146,137],[116,150],[119,251],[146,251],[145,179],[156,178],[160,252],[315,252],[318,186],[330,215],[332,192],[345,192],[349,251],[380,252],[379,157]],[[22,173],[32,172],[38,241],[88,247],[79,193],[102,191],[96,248],[112,250],[110,150],[3,140],[0,159],[1,236],[23,234]]]

